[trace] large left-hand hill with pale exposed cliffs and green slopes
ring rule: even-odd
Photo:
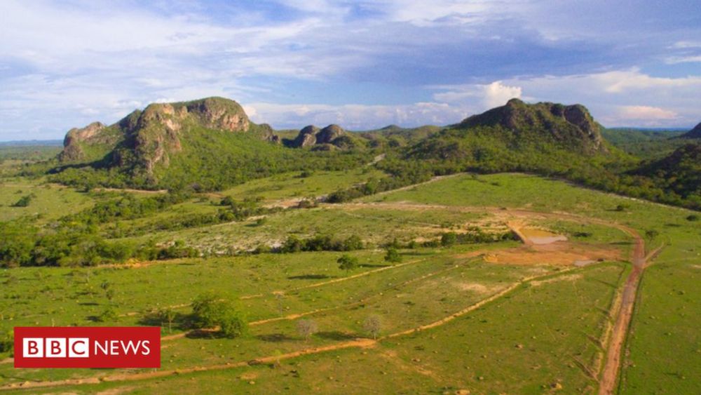
[[[54,179],[88,187],[213,190],[281,171],[348,168],[367,160],[277,142],[270,126],[252,123],[233,100],[154,103],[111,126],[70,130]]]

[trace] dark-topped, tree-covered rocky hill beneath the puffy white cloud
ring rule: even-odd
[[[512,99],[408,147],[404,158],[426,161],[449,173],[563,173],[625,156],[606,143],[600,129],[582,105],[529,105]]]

